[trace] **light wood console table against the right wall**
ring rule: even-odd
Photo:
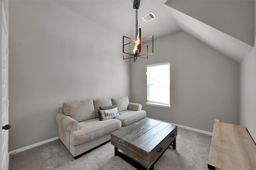
[[[256,145],[244,126],[214,122],[210,170],[256,170]]]

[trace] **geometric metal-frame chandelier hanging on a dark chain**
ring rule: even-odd
[[[148,36],[141,38],[141,28],[138,30],[138,9],[140,6],[140,0],[134,0],[133,8],[136,9],[136,39],[131,39],[129,37],[123,36],[123,59],[133,58],[133,62],[137,60],[138,57],[148,59],[149,54],[153,54],[153,41],[154,36]],[[152,38],[152,39],[151,39]],[[128,40],[127,43],[125,43]],[[152,52],[148,53],[148,45],[145,42],[152,42]],[[126,51],[126,52],[125,52]],[[125,57],[128,56],[128,57]]]

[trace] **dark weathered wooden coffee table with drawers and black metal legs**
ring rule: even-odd
[[[115,156],[137,169],[154,170],[154,164],[169,146],[176,149],[176,136],[176,125],[145,118],[112,132],[111,144]]]

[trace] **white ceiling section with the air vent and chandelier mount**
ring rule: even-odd
[[[130,38],[135,38],[135,9],[133,0],[56,0],[66,8],[108,29]],[[142,37],[164,37],[180,31],[180,27],[164,7],[166,0],[141,0],[138,10],[138,27]],[[156,19],[145,22],[142,16],[153,12]],[[110,40],[111,41],[111,40]]]

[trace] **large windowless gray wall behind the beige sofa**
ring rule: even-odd
[[[9,1],[9,151],[57,136],[64,102],[130,96],[122,35],[52,1]]]

